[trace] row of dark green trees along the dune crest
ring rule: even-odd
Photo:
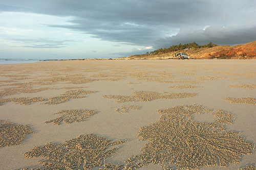
[[[168,48],[160,48],[160,49],[152,51],[152,52],[146,52],[146,55],[150,56],[150,55],[157,55],[157,54],[164,54],[164,53],[188,50],[188,49],[192,49],[192,48],[194,48],[194,49],[198,49],[198,48],[202,48],[202,47],[210,48],[210,47],[214,47],[214,46],[218,46],[218,45],[216,45],[212,42],[209,42],[208,44],[204,44],[204,45],[198,45],[196,42],[187,43],[187,44],[180,43],[179,45],[173,45]]]

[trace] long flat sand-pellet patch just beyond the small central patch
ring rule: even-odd
[[[154,91],[135,91],[133,96],[125,95],[103,95],[105,99],[116,99],[119,100],[117,103],[124,102],[150,102],[157,99],[179,99],[179,98],[191,98],[196,96],[197,93],[167,93],[161,95]]]

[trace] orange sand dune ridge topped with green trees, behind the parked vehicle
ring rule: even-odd
[[[196,42],[172,45],[168,48],[147,52],[146,54],[131,55],[128,59],[175,59],[175,53],[186,53],[190,59],[255,59],[256,41],[235,46],[217,45],[209,42],[199,45]],[[176,58],[177,59],[177,58]]]

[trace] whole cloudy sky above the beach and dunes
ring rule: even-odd
[[[0,0],[0,58],[145,54],[256,40],[255,0]]]

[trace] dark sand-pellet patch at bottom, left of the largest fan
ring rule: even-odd
[[[60,144],[46,143],[34,147],[24,155],[26,158],[43,157],[38,162],[47,169],[91,169],[104,165],[104,160],[117,153],[118,147],[111,145],[124,143],[124,140],[110,141],[93,134],[80,135]]]

